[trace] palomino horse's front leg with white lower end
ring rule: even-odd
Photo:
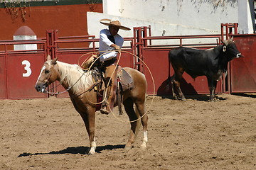
[[[82,120],[85,123],[87,133],[89,135],[90,149],[88,154],[95,154],[96,142],[95,142],[95,111],[88,109],[86,113],[80,113]]]

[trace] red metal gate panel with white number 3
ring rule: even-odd
[[[36,44],[40,50],[14,51],[14,45]],[[44,98],[34,90],[38,72],[45,60],[45,41],[0,42],[0,98]]]

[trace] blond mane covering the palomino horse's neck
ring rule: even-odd
[[[60,73],[60,84],[66,81],[68,86],[72,87],[74,93],[78,93],[93,84],[90,72],[85,72],[78,64],[68,64],[57,62]]]

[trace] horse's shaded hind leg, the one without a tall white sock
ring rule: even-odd
[[[129,120],[131,122],[130,123],[131,124],[131,130],[130,130],[127,145],[125,145],[125,149],[131,149],[132,145],[134,143],[134,140],[135,140],[135,133],[136,133],[136,129],[137,129],[137,121],[135,121],[135,122],[133,122],[133,121],[137,120],[137,115],[134,111],[134,108],[133,108],[134,102],[132,101],[131,98],[127,98],[127,100],[125,100],[123,102],[123,104],[124,104],[124,109],[125,109],[127,115],[129,116]]]

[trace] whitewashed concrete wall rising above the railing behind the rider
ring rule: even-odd
[[[88,34],[98,36],[101,18],[119,16],[130,28],[151,26],[153,36],[220,33],[220,23],[238,23],[238,0],[103,0],[103,13],[87,13]],[[120,31],[132,37],[131,31]]]

